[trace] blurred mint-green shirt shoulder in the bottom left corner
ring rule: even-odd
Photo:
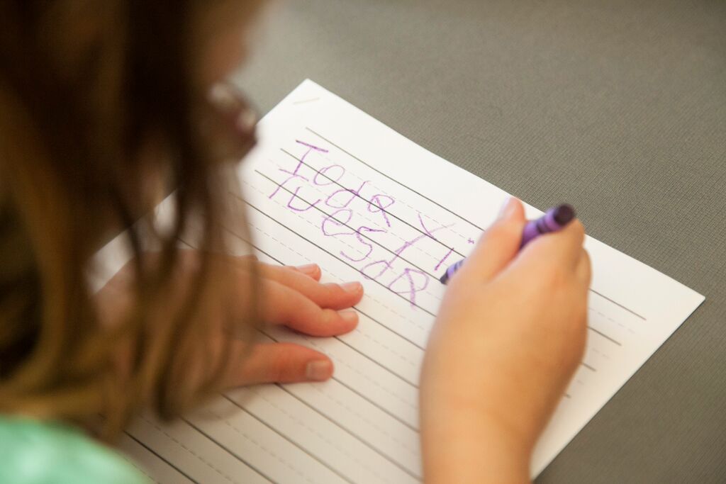
[[[0,483],[149,484],[133,464],[65,424],[0,416]]]

